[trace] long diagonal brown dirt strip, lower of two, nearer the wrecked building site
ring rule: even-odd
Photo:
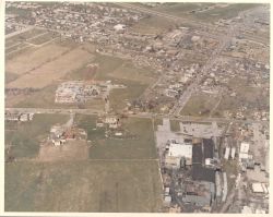
[[[54,81],[61,79],[67,73],[81,68],[93,58],[87,51],[80,48],[73,49],[41,68],[36,69],[27,74],[22,75],[17,80],[9,83],[7,87],[16,88],[43,88],[50,85]],[[35,82],[34,82],[35,81]]]

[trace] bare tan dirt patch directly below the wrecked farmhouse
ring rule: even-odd
[[[39,148],[39,161],[83,160],[88,158],[86,141],[67,141],[64,145],[45,144]]]

